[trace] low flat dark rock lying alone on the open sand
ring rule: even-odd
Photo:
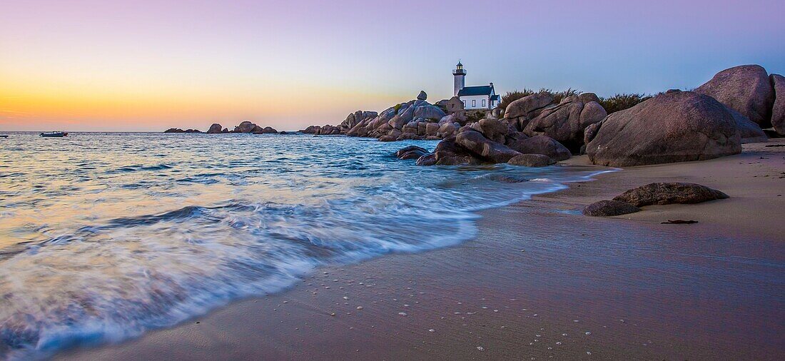
[[[642,207],[651,206],[652,204],[692,204],[726,198],[728,198],[728,195],[725,193],[700,184],[651,183],[625,191],[621,195],[614,197],[613,200]]]

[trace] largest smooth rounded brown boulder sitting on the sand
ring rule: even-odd
[[[741,152],[736,121],[707,95],[668,91],[608,115],[586,144],[601,166],[643,166],[712,159]]]

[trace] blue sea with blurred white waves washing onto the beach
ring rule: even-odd
[[[50,356],[285,289],[321,264],[451,246],[477,210],[596,169],[421,167],[309,135],[0,139],[0,357]],[[510,220],[516,222],[521,220]]]

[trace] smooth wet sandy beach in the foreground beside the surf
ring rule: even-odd
[[[482,212],[461,246],[319,268],[281,294],[58,357],[785,359],[785,147],[771,144],[785,140],[604,173]],[[652,181],[731,198],[579,213]]]

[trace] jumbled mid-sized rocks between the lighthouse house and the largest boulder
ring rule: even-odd
[[[607,113],[593,93],[556,102],[547,92],[515,100],[504,118],[485,118],[463,126],[445,126],[444,140],[417,164],[475,165],[506,162],[516,166],[549,166],[569,159],[583,145],[584,129]],[[449,117],[449,115],[447,116]],[[449,123],[447,123],[449,124]]]

